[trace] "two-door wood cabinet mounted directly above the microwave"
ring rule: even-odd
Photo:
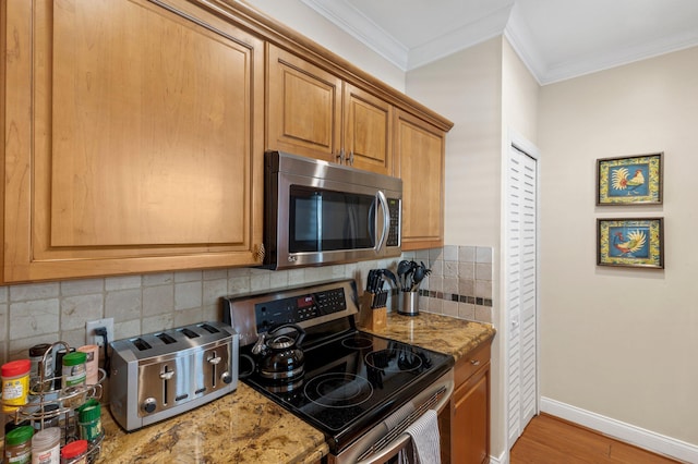
[[[393,107],[279,47],[268,47],[269,150],[392,174]]]

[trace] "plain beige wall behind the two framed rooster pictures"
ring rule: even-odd
[[[542,87],[545,398],[698,444],[698,48]],[[595,160],[664,151],[664,204],[595,207]],[[597,218],[665,218],[665,270],[595,266]]]

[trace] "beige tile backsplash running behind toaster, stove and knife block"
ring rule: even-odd
[[[420,310],[492,320],[492,248],[445,246],[404,254],[433,273]],[[85,344],[85,322],[112,317],[123,339],[202,320],[220,320],[220,296],[353,278],[359,292],[370,269],[395,271],[399,259],[268,271],[231,268],[0,286],[0,363],[26,357],[37,343]],[[429,262],[428,262],[429,261]],[[395,302],[397,303],[397,302]]]

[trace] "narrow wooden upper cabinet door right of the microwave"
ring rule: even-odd
[[[402,249],[443,246],[445,133],[398,111],[394,149],[402,179]]]

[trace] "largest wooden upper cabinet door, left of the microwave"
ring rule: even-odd
[[[167,3],[7,1],[4,281],[257,262],[263,42]]]

